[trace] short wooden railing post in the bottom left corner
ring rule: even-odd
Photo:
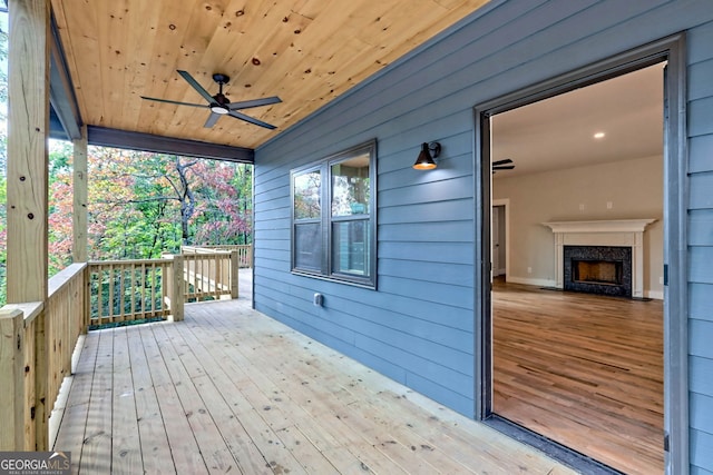
[[[25,316],[0,308],[0,451],[25,451]]]

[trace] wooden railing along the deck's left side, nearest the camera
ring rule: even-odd
[[[0,451],[47,451],[48,419],[86,329],[86,264],[49,280],[47,304],[0,308]]]

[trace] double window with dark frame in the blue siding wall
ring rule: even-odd
[[[292,271],[377,286],[377,142],[292,171]]]

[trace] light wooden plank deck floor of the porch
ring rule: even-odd
[[[81,474],[569,474],[250,308],[91,331],[55,449]]]

